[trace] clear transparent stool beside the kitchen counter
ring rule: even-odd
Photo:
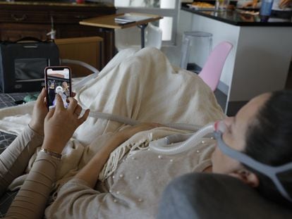
[[[212,51],[212,34],[202,31],[183,33],[181,68],[200,73]]]

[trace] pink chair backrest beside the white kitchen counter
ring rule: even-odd
[[[221,42],[215,46],[199,74],[212,91],[214,91],[219,84],[224,63],[232,47],[233,45],[229,42]]]

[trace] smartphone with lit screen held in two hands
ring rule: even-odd
[[[47,90],[47,106],[56,106],[56,95],[60,95],[64,107],[68,107],[67,99],[72,96],[71,69],[67,66],[49,66],[44,69],[44,82]]]

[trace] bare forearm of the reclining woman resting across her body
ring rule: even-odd
[[[102,149],[95,154],[90,162],[75,175],[75,178],[83,180],[91,188],[95,187],[100,171],[107,162],[111,152],[114,151],[117,146],[125,142],[137,132],[150,130],[159,126],[160,125],[157,123],[142,123],[140,125],[129,127],[121,132],[117,132],[113,137],[111,137],[111,139],[109,139],[109,142],[107,142],[107,144],[105,144]]]

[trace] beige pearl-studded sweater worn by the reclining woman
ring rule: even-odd
[[[163,129],[159,127],[156,131],[166,132]],[[145,136],[147,132],[140,132],[137,137],[139,135]],[[174,177],[208,168],[214,142],[214,139],[205,139],[195,149],[175,156],[138,151],[121,159],[114,173],[104,182],[99,181],[95,190],[82,180],[71,180],[61,187],[47,215],[54,213],[59,218],[71,209],[73,218],[155,218],[166,184]],[[80,197],[76,200],[80,205],[75,204],[75,197]]]

